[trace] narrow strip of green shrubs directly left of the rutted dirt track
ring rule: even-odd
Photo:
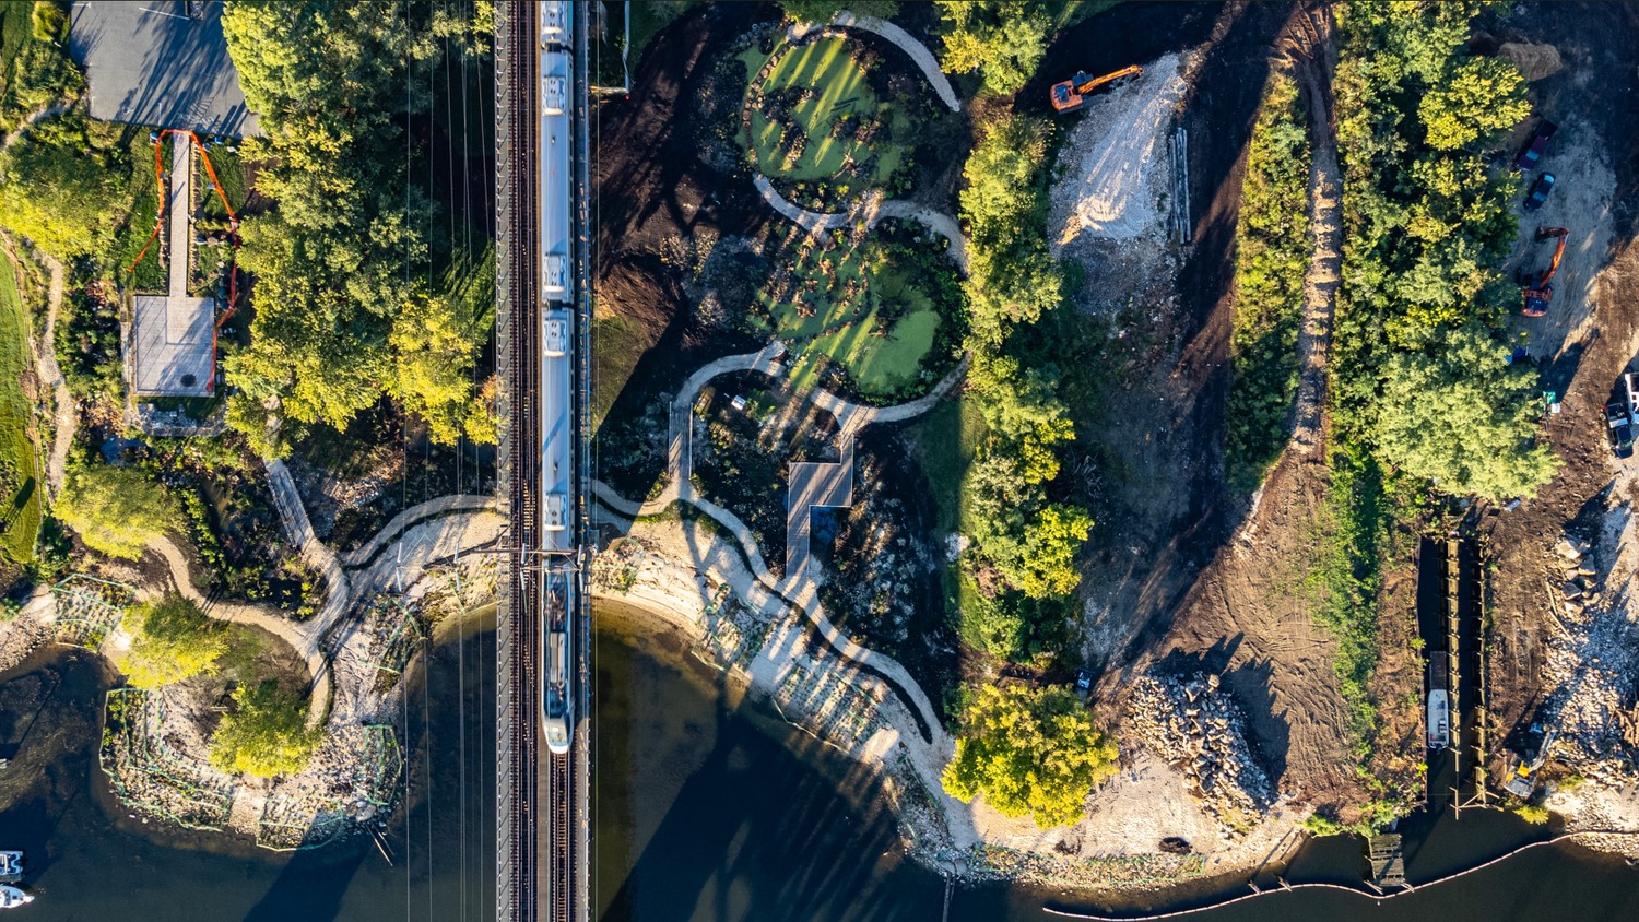
[[[1311,254],[1310,144],[1298,85],[1275,72],[1252,126],[1236,228],[1233,385],[1224,462],[1252,490],[1287,444],[1298,391],[1298,326]]]

